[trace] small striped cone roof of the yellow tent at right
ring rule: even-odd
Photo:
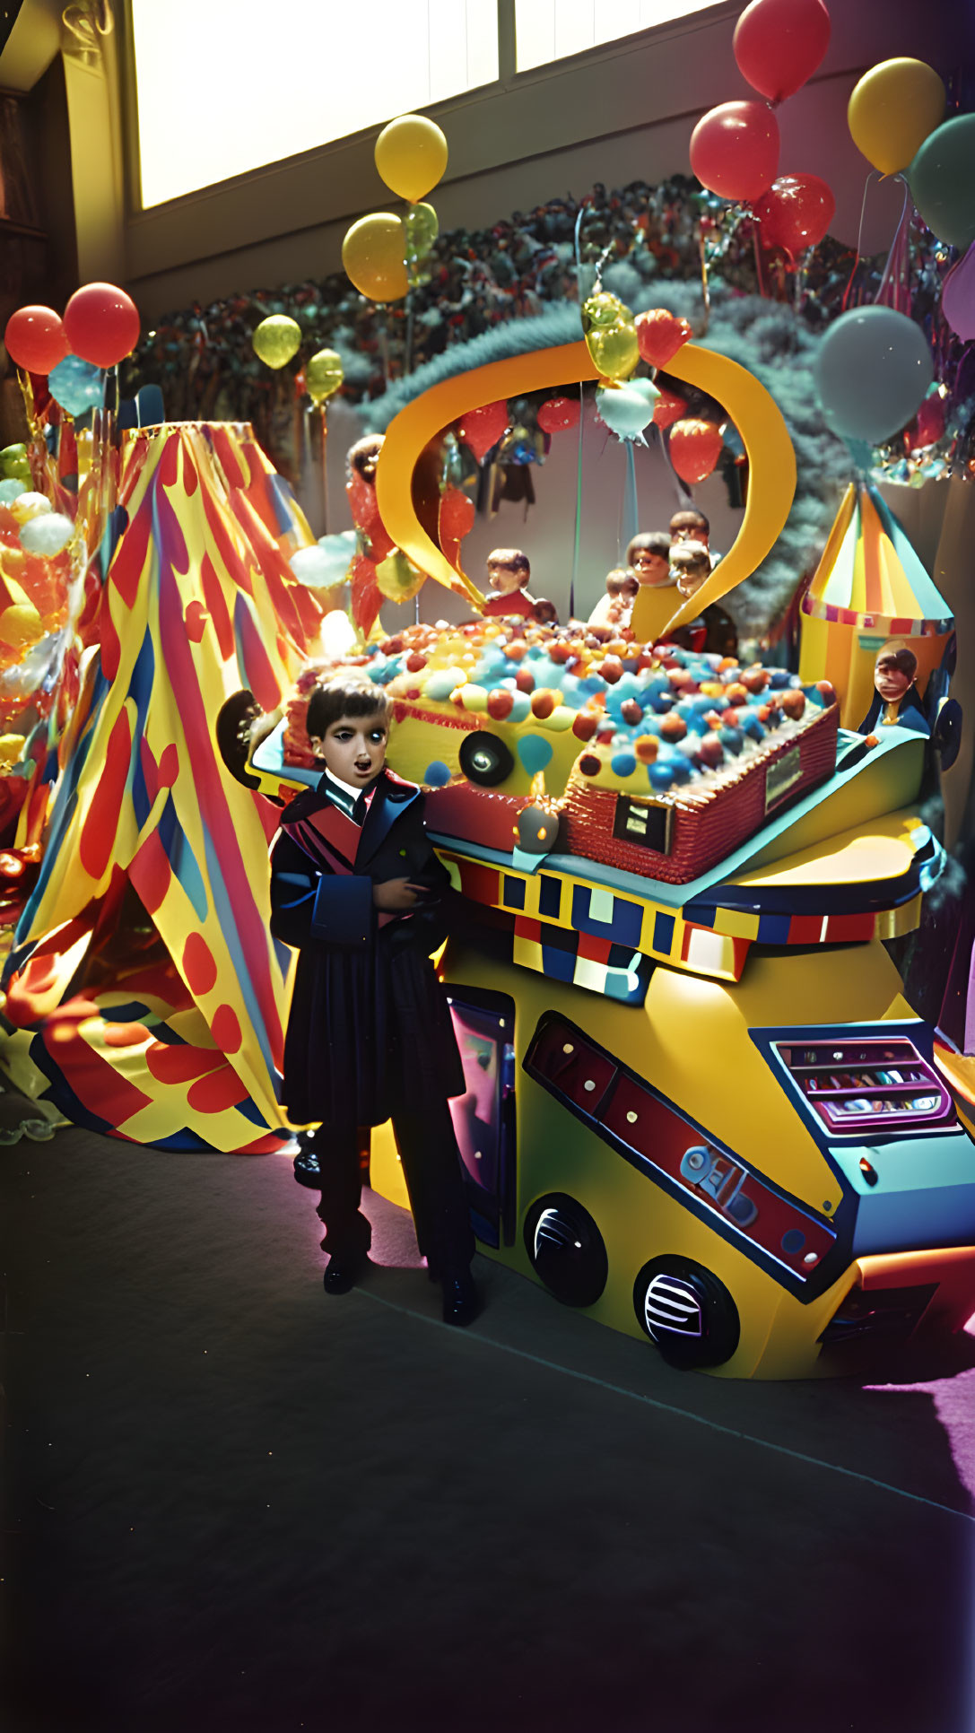
[[[869,482],[850,482],[802,612],[888,638],[952,627],[951,608],[925,572],[901,523]]]

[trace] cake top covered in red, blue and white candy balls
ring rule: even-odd
[[[648,797],[705,792],[835,702],[828,683],[802,686],[785,669],[521,620],[410,626],[341,667],[384,686],[400,719],[455,719],[507,738],[513,730],[571,731],[578,776]],[[307,750],[307,695],[336,672],[319,667],[301,678],[286,742],[291,763]]]

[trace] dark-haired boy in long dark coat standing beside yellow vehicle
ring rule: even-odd
[[[426,837],[419,789],[384,768],[386,695],[350,681],[319,686],[307,731],[324,775],[282,813],[270,901],[274,936],[298,948],[284,1106],[296,1121],[320,1120],[326,1293],[348,1293],[367,1263],[357,1128],[391,1118],[443,1317],[468,1324],[475,1241],[447,1106],[466,1083],[429,960],[445,938],[450,880]]]

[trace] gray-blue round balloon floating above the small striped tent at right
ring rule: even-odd
[[[812,367],[835,433],[871,445],[899,433],[933,380],[925,333],[890,307],[856,307],[830,326]]]

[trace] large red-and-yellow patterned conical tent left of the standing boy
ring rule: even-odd
[[[62,742],[42,872],[7,964],[7,1064],[76,1123],[171,1149],[268,1149],[291,955],[270,938],[277,808],[223,766],[215,721],[274,709],[320,610],[312,541],[244,426],[137,430],[100,648]]]

